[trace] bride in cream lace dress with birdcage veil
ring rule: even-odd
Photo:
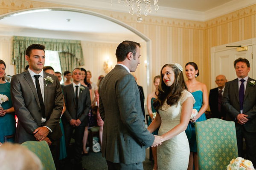
[[[195,99],[187,91],[180,64],[165,64],[160,72],[157,100],[153,106],[157,110],[154,121],[148,127],[154,132],[160,126],[158,135],[162,145],[157,147],[158,170],[186,170],[189,164],[189,142],[186,137]]]

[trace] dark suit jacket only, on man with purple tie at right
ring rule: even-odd
[[[249,120],[244,128],[247,132],[256,132],[256,85],[250,85],[250,81],[255,80],[249,77],[245,88],[243,114],[248,115]],[[235,121],[236,127],[240,126],[236,120],[240,113],[238,78],[226,83],[222,103],[227,111],[226,120]]]

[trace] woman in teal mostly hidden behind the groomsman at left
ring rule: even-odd
[[[51,75],[55,75],[54,69],[51,66],[44,66],[43,70],[44,70],[44,72],[47,72],[47,73],[49,73]],[[63,113],[65,111],[66,111],[66,105],[65,105],[64,96],[63,96],[63,109],[62,109],[62,112],[61,112],[61,116],[63,115]],[[66,152],[66,144],[65,144],[64,127],[63,127],[61,118],[60,118],[59,122],[60,122],[61,133],[62,133],[62,136],[61,136],[61,146],[60,146],[60,158],[59,158],[59,160],[61,160],[61,159],[64,159],[64,158],[67,157],[67,152]]]

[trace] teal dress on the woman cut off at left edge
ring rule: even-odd
[[[12,107],[11,88],[10,83],[0,84],[0,94],[6,95],[9,101],[1,104],[4,110]],[[14,113],[6,113],[0,116],[0,142],[4,143],[4,136],[12,135],[16,131],[16,121]],[[9,138],[8,142],[14,142],[15,137]]]

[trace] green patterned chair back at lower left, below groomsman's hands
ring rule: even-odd
[[[44,170],[56,170],[52,153],[46,141],[26,141],[21,145],[27,147],[38,156]]]

